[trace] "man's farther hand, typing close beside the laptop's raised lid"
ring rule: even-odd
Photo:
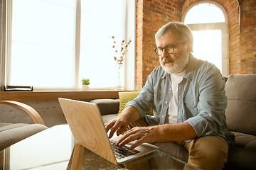
[[[107,123],[105,123],[105,128],[107,132],[110,130],[110,138],[114,135],[114,132],[117,131],[117,136],[119,136],[122,132],[127,130],[127,120],[124,120],[123,118],[114,118]]]

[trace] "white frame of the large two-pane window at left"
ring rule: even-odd
[[[135,89],[135,56],[136,56],[136,8],[137,1],[124,0],[127,4],[126,18],[127,23],[125,26],[125,40],[132,38],[132,44],[129,45],[129,50],[124,57],[124,90]],[[81,0],[76,0],[76,25],[75,25],[75,72],[79,73],[79,60],[80,60],[80,9]],[[12,0],[3,1],[2,6],[3,15],[2,17],[2,51],[1,51],[1,91],[4,91],[4,86],[8,85],[8,71],[11,59],[11,13],[12,13]],[[114,62],[114,61],[113,61]],[[67,90],[78,90],[79,88],[79,74],[75,74],[75,89]],[[46,89],[36,89],[46,90]],[[58,90],[58,89],[55,89]],[[61,89],[63,90],[63,89]]]

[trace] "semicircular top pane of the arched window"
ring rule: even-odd
[[[225,22],[223,11],[211,3],[200,3],[193,6],[188,13],[184,23],[221,23]]]

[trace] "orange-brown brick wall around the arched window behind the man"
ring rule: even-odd
[[[136,89],[142,89],[146,77],[159,65],[154,54],[154,34],[171,21],[181,21],[191,4],[202,0],[137,1],[137,77]],[[229,72],[256,73],[256,0],[212,0],[222,5],[228,15]]]

